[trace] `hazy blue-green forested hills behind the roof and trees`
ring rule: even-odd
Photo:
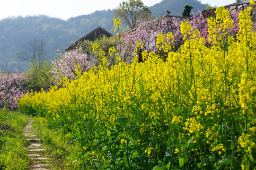
[[[195,13],[198,9],[206,9],[207,6],[198,0],[162,0],[150,9],[156,18],[166,15],[166,9],[171,11],[171,15],[181,16],[186,4],[194,7]],[[13,72],[18,68],[21,72],[25,71],[28,62],[19,59],[16,54],[25,51],[22,46],[30,39],[44,39],[47,43],[46,49],[49,51],[47,57],[53,59],[56,57],[57,48],[67,48],[71,42],[77,41],[98,26],[114,34],[113,20],[114,9],[71,17],[66,21],[44,15],[2,19],[0,20],[0,69]]]

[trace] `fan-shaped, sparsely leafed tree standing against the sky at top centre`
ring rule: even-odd
[[[119,17],[122,23],[128,25],[131,29],[137,27],[138,21],[150,20],[151,10],[144,6],[141,0],[128,0],[122,2],[114,11],[115,17]]]

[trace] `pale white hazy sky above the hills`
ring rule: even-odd
[[[160,1],[162,0],[142,0],[148,7]],[[68,19],[90,14],[96,10],[114,9],[120,2],[122,0],[1,0],[0,19],[39,14]],[[201,2],[220,7],[234,3],[235,0],[201,0]]]

